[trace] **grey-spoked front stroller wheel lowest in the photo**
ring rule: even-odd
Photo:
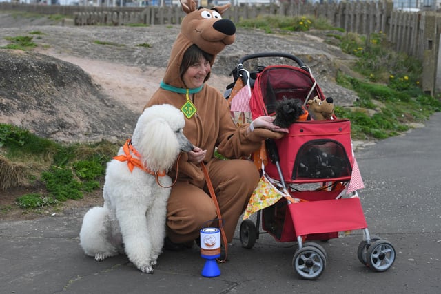
[[[325,271],[326,258],[315,246],[304,246],[294,254],[292,266],[300,277],[315,280]]]

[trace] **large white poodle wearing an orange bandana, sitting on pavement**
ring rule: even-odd
[[[101,261],[125,251],[140,271],[154,272],[172,185],[163,171],[172,167],[180,151],[194,148],[183,135],[184,125],[182,112],[172,105],[144,110],[132,140],[107,163],[103,207],[93,207],[84,216],[80,240],[86,255]]]

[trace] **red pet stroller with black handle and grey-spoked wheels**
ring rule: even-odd
[[[276,89],[271,91],[269,96],[274,94],[272,92],[283,92],[284,95],[290,93],[293,94],[294,98],[299,98],[300,96],[303,105],[306,105],[307,100],[314,96],[325,100],[325,95],[318,87],[309,67],[301,59],[291,54],[269,52],[243,56],[232,72],[234,82],[238,78],[247,78],[241,74],[244,70],[243,63],[245,61],[267,57],[291,59],[296,65],[269,65],[267,67],[257,65],[256,70],[250,72],[249,76],[252,78],[251,84],[253,86],[253,96],[250,104],[254,102],[258,105],[258,107],[252,107],[253,118],[270,114],[273,109],[273,107],[267,107],[269,103],[274,103],[273,98],[271,98],[273,100],[267,96],[256,98],[256,93],[254,92],[254,87],[260,87],[260,84],[256,85],[256,83],[260,82],[258,77],[265,70],[276,71],[281,68],[295,75],[287,78],[285,84],[282,83],[283,87],[287,86],[291,87],[291,89]],[[298,78],[296,75],[301,76],[301,78]],[[288,85],[291,81],[300,81],[302,85]],[[245,84],[246,81],[243,82]],[[227,86],[226,98],[229,96],[228,90],[233,86],[234,83]],[[257,102],[253,101],[253,99],[257,99]],[[280,100],[280,97],[276,97],[277,99]],[[259,105],[259,103],[263,103],[264,106]],[[257,113],[255,113],[256,109],[258,109]],[[337,130],[334,131],[334,129]],[[347,132],[342,132],[342,129],[346,129]],[[311,138],[307,138],[307,136],[311,136]],[[307,145],[307,142],[314,142],[311,146],[318,146],[323,148],[322,150],[338,150],[336,154],[339,156],[342,156],[342,154],[347,155],[342,156],[346,157],[345,160],[347,160],[344,164],[345,167],[342,168],[340,173],[334,173],[333,176],[319,176],[317,178],[310,175],[305,176],[305,174],[296,171],[298,166],[300,166],[297,162],[298,155],[302,154],[300,147],[295,149],[295,160],[292,158],[285,160],[284,158],[287,150],[289,152],[293,149],[287,149],[287,146],[296,145],[292,142],[301,142],[298,145]],[[268,162],[267,167],[265,167],[265,174],[269,174],[280,188],[280,191],[288,192],[293,198],[300,198],[303,201],[292,203],[290,200],[282,198],[276,204],[257,211],[256,222],[250,219],[243,220],[240,224],[240,242],[242,246],[251,249],[259,238],[260,233],[269,233],[277,242],[297,242],[298,249],[292,260],[294,271],[296,271],[298,276],[306,280],[315,280],[325,271],[327,253],[320,244],[311,242],[311,240],[327,241],[331,238],[338,238],[339,232],[361,229],[363,238],[357,250],[358,260],[373,271],[387,271],[396,258],[393,245],[387,240],[382,240],[377,236],[369,234],[360,198],[358,198],[358,192],[351,191],[347,193],[348,188],[346,186],[351,180],[352,167],[355,162],[351,147],[349,120],[338,120],[334,116],[333,120],[296,122],[289,127],[289,134],[287,136],[277,141],[266,140],[265,143],[271,160],[271,162]],[[282,165],[280,165],[279,150],[283,151],[282,159],[288,161],[282,162]],[[310,154],[305,151],[303,155],[308,156]],[[286,178],[287,174],[291,175],[291,177]],[[302,185],[321,185],[321,187],[315,190],[311,190],[309,187],[299,189]],[[260,232],[258,229],[260,223],[262,224],[263,232]]]

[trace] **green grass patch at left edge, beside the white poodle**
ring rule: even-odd
[[[14,187],[16,178],[41,182],[47,193],[19,200],[20,207],[52,205],[68,199],[79,200],[84,193],[99,189],[106,162],[119,144],[102,141],[94,144],[61,144],[35,136],[25,129],[0,124],[0,179],[2,187]],[[5,160],[1,160],[1,156]],[[21,174],[11,178],[11,170]],[[7,183],[5,181],[10,181]],[[19,182],[23,184],[23,182]]]

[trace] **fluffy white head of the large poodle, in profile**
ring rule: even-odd
[[[145,167],[152,171],[170,169],[180,151],[192,151],[194,146],[184,136],[184,126],[183,113],[170,104],[144,109],[136,123],[132,144]]]

